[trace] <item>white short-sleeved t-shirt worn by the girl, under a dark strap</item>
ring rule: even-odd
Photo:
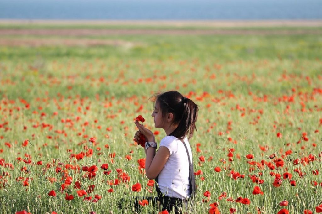
[[[185,137],[184,141],[192,163],[191,148],[187,137]],[[168,148],[170,157],[159,173],[158,184],[160,191],[169,197],[188,199],[190,193],[189,160],[185,145],[174,136],[166,136],[161,140],[161,146]]]

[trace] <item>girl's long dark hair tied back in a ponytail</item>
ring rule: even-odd
[[[153,98],[161,110],[162,119],[165,120],[167,113],[172,113],[174,124],[178,124],[170,135],[179,140],[183,140],[186,136],[190,139],[194,135],[194,130],[197,131],[195,123],[198,117],[198,105],[178,91],[157,93]]]

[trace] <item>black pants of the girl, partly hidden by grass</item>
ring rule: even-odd
[[[170,198],[166,195],[159,195],[158,197],[144,197],[144,196],[137,196],[132,200],[132,204],[134,205],[134,211],[140,213],[140,209],[142,205],[139,204],[139,201],[147,200],[150,204],[156,207],[157,210],[163,211],[167,210],[169,213],[170,211],[174,211],[175,214],[182,214],[182,213],[189,213],[188,210],[188,201],[179,199],[179,198]],[[122,202],[125,199],[120,201],[120,209],[124,206]]]

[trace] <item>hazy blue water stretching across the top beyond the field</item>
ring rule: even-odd
[[[0,19],[322,19],[322,0],[0,0]]]

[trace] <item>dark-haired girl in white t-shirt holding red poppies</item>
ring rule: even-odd
[[[145,146],[145,171],[149,179],[156,179],[157,198],[148,198],[158,204],[160,209],[187,211],[188,200],[195,190],[192,153],[189,139],[196,130],[198,106],[177,91],[168,91],[154,96],[155,106],[152,113],[156,128],[164,129],[164,137],[156,152],[157,143],[153,133],[137,121],[139,131],[135,140],[143,134]],[[142,198],[137,198],[136,200]],[[136,203],[137,206],[137,203]],[[181,207],[181,208],[180,208]]]

